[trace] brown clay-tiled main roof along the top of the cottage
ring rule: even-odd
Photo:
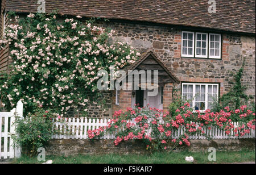
[[[46,12],[108,19],[212,28],[255,34],[255,0],[216,0],[217,11],[208,12],[209,0],[47,0]],[[7,0],[6,10],[36,12],[38,0]]]

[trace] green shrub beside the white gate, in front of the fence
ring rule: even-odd
[[[37,107],[34,113],[21,118],[15,116],[16,134],[13,136],[15,146],[21,145],[24,154],[35,156],[38,148],[44,147],[55,133],[51,111]]]

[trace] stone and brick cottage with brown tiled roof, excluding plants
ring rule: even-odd
[[[9,23],[8,11],[20,15],[36,12],[37,2],[3,0],[1,35]],[[168,110],[174,88],[185,99],[195,97],[191,102],[194,109],[210,109],[214,98],[233,86],[230,72],[240,69],[243,60],[242,84],[255,102],[255,1],[218,0],[216,13],[209,13],[207,0],[45,2],[46,12],[109,19],[97,24],[115,31],[110,42],[128,43],[142,53],[125,69],[159,70],[158,95],[150,97],[148,90],[141,89],[104,91],[108,110],[92,105],[90,116],[111,117],[115,110],[126,110],[136,103]],[[0,70],[8,71],[8,55],[8,48],[0,52]]]

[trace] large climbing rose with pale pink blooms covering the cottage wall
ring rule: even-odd
[[[86,113],[88,103],[101,107],[97,72],[113,66],[115,73],[133,64],[139,53],[127,44],[108,43],[114,31],[92,22],[58,20],[54,14],[15,16],[0,40],[1,49],[9,45],[13,60],[0,82],[0,107],[10,110],[21,99],[25,114],[43,105],[61,116],[70,109]]]

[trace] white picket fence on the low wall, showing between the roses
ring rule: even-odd
[[[87,131],[95,130],[99,127],[107,126],[110,119],[87,119],[87,118],[68,118],[65,122],[60,122],[58,119],[55,121],[55,127],[61,131],[61,134],[52,136],[52,139],[88,139]],[[65,124],[64,124],[65,123]],[[133,122],[134,123],[134,122]],[[199,126],[199,123],[196,123]],[[233,123],[234,127],[238,126],[238,123]],[[177,139],[184,133],[185,128],[179,128],[175,132],[172,131],[172,138]],[[207,127],[203,127],[202,130],[207,136],[212,139],[236,139],[233,132],[231,135],[227,135],[225,131],[218,127],[211,127],[208,130]],[[148,131],[148,134],[150,131]],[[114,139],[114,133],[106,134],[101,139]],[[241,138],[255,138],[255,130],[250,130],[249,134],[245,134]],[[207,139],[203,135],[192,135],[189,139]]]

